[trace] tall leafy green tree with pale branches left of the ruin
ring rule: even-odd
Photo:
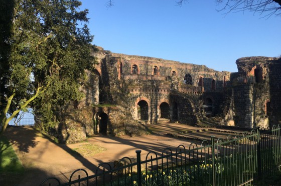
[[[79,0],[6,1],[13,2],[7,5],[13,11],[6,14],[10,28],[1,32],[6,48],[0,53],[1,134],[30,104],[44,123],[54,126],[54,105],[82,98],[79,87],[85,69],[93,69],[95,63],[88,10],[78,11]],[[2,13],[7,7],[0,8]]]

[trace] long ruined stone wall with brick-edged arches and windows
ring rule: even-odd
[[[61,113],[61,141],[87,135],[141,135],[161,120],[254,128],[281,119],[281,61],[242,57],[238,72],[99,47],[98,65],[81,86],[85,98]],[[143,123],[143,124],[141,124]]]

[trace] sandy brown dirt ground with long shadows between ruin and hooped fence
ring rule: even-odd
[[[26,175],[17,182],[17,185],[39,185],[49,176],[55,176],[61,182],[67,182],[70,174],[78,168],[84,168],[89,174],[93,174],[100,163],[112,163],[124,156],[135,157],[135,150],[142,150],[142,160],[144,160],[147,153],[152,150],[161,153],[166,147],[172,150],[180,144],[188,147],[191,141],[168,137],[165,134],[179,130],[198,129],[177,123],[154,124],[150,125],[150,128],[158,134],[136,137],[103,135],[90,137],[87,143],[107,149],[91,157],[70,153],[72,148],[84,143],[57,144],[32,126],[10,127],[5,135],[13,143],[19,159],[27,169]]]

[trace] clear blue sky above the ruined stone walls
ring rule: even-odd
[[[81,0],[93,44],[115,53],[159,57],[235,72],[245,56],[281,55],[281,16],[218,12],[215,0]]]

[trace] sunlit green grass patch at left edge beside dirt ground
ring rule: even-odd
[[[12,144],[7,137],[0,137],[0,173],[5,172],[24,172],[24,166],[19,160]]]

